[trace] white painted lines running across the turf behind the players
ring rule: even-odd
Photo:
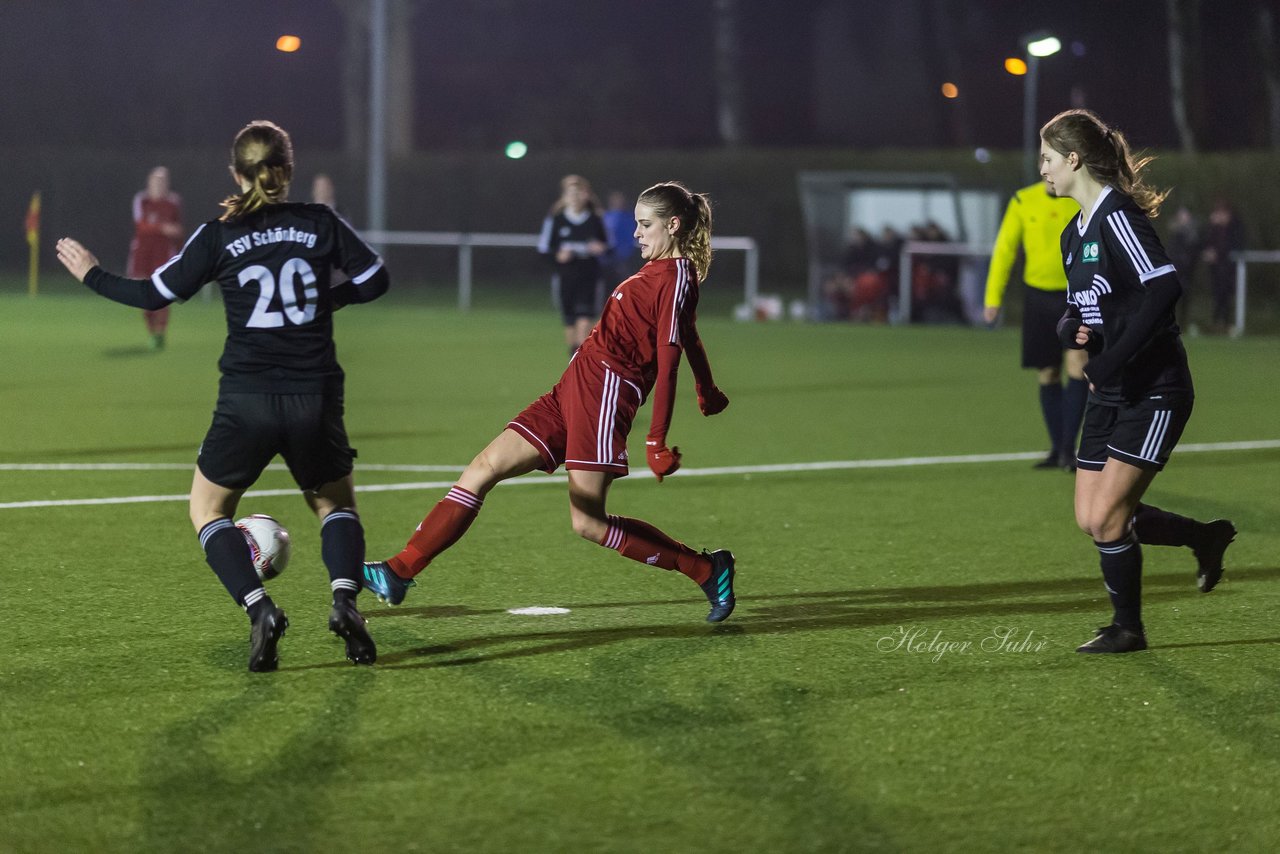
[[[1270,451],[1280,448],[1280,439],[1261,439],[1257,442],[1202,442],[1178,446],[1179,453],[1201,453],[1208,451]],[[841,471],[851,469],[902,469],[908,466],[947,466],[982,462],[1021,462],[1027,460],[1039,460],[1043,451],[1020,451],[1015,453],[968,453],[950,457],[895,457],[888,460],[836,460],[831,462],[782,462],[764,466],[719,466],[713,469],[681,469],[680,478],[707,478],[716,475],[755,475],[755,474],[785,474],[792,471]],[[189,465],[180,463],[0,463],[0,471],[168,471],[191,470]],[[271,466],[283,469],[283,466]],[[462,471],[463,466],[396,466],[396,465],[360,465],[357,471]],[[632,478],[653,478],[645,470],[636,470]],[[559,484],[564,483],[564,475],[550,475],[540,478],[516,478],[504,480],[502,487],[520,487],[529,484]],[[426,489],[447,489],[454,480],[430,480],[397,484],[365,484],[356,487],[356,492],[412,492]],[[244,493],[246,498],[269,498],[276,495],[296,495],[294,489],[253,489]],[[90,507],[93,504],[145,504],[165,501],[187,501],[187,494],[180,495],[120,495],[116,498],[65,498],[59,501],[13,501],[0,503],[0,510],[24,510],[31,507]]]

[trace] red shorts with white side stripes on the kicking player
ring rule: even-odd
[[[627,434],[640,408],[640,388],[608,365],[575,359],[547,394],[507,425],[543,455],[541,470],[627,474]]]

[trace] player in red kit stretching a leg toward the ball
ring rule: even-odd
[[[412,577],[458,542],[498,483],[563,465],[575,533],[623,557],[687,575],[710,602],[708,622],[732,613],[732,553],[694,551],[648,522],[611,516],[604,508],[613,479],[627,474],[627,434],[650,394],[646,461],[659,481],[680,469],[680,449],[667,447],[667,430],[682,352],[689,355],[703,415],[728,406],[712,379],[696,325],[698,284],[712,259],[710,204],[667,182],[640,195],[635,215],[635,236],[646,264],[614,288],[556,387],[512,419],[471,461],[404,549],[387,561],[365,563],[364,584],[379,599],[399,604]]]

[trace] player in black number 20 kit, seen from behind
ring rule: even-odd
[[[253,570],[248,543],[232,522],[241,495],[275,455],[320,519],[329,570],[329,629],[347,658],[371,665],[378,649],[356,609],[365,533],[356,515],[352,460],[343,426],[343,373],[333,343],[333,312],[387,292],[381,259],[325,205],[289,204],[293,145],[270,122],[252,122],[232,146],[239,192],[219,219],[201,225],[150,279],[97,266],[70,238],[58,259],[77,279],[115,302],[159,309],[191,298],[206,282],[221,288],[227,344],[221,382],[191,485],[191,521],[205,560],[250,617],[251,671],[278,666],[289,622]],[[330,287],[330,271],[349,280]]]

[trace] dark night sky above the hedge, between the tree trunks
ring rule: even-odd
[[[1202,147],[1266,143],[1258,0],[1206,0]],[[1266,0],[1271,1],[1271,0]],[[1165,0],[739,0],[746,142],[867,149],[1021,140],[1019,36],[1057,35],[1038,120],[1083,104],[1172,147]],[[420,0],[419,149],[719,143],[712,0]],[[332,0],[0,0],[0,146],[202,146],[273,118],[340,149],[343,15]],[[297,54],[278,35],[302,38]],[[940,88],[954,82],[960,97]]]

